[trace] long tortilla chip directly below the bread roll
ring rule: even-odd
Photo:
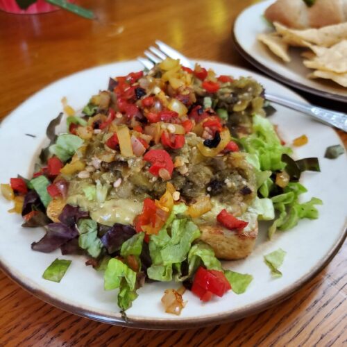
[[[347,40],[347,22],[306,30],[289,29],[277,22],[274,23],[274,26],[284,40],[293,46],[307,46],[307,42],[309,42],[318,46],[330,47],[341,40]]]

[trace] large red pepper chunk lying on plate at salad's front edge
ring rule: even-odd
[[[207,270],[203,266],[196,271],[192,292],[202,301],[209,301],[212,294],[221,297],[230,289],[230,283],[222,271]]]

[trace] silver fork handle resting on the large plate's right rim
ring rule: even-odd
[[[303,112],[306,115],[319,119],[319,121],[323,121],[323,123],[330,124],[347,132],[347,115],[345,113],[327,110],[326,108],[320,108],[315,105],[301,103],[269,93],[265,93],[265,99],[291,108],[292,110]]]

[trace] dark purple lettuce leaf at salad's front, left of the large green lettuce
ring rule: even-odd
[[[109,254],[115,253],[121,249],[121,245],[130,239],[136,231],[131,226],[125,226],[124,224],[115,223],[111,226],[105,235],[101,237],[101,242],[107,249]]]

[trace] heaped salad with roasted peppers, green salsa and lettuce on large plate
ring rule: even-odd
[[[1,192],[25,228],[44,227],[33,251],[87,257],[105,290],[118,289],[122,312],[146,282],[176,282],[162,297],[172,314],[185,306],[185,290],[204,302],[242,294],[253,277],[221,260],[251,254],[258,223],[271,221],[271,238],[318,218],[321,204],[299,202],[301,172],[319,171],[319,162],[291,158],[263,96],[252,78],[169,58],[110,78],[81,111],[62,100],[33,177],[11,178]],[[284,257],[282,249],[265,256],[273,276]],[[43,278],[60,282],[69,266],[56,259]]]

